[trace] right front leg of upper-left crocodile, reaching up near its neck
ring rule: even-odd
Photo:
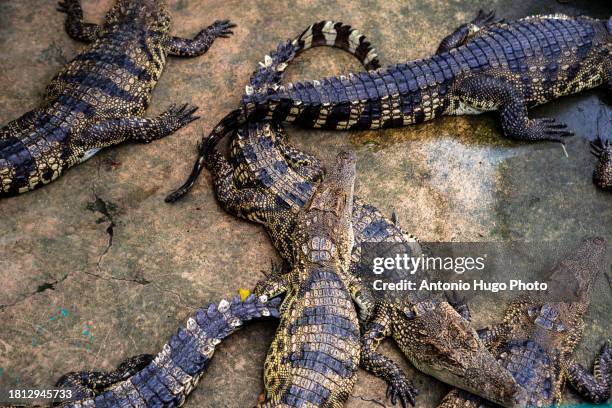
[[[228,38],[233,34],[232,28],[236,24],[229,20],[215,21],[194,38],[170,37],[166,40],[166,47],[171,55],[179,57],[197,57],[204,54],[217,38]]]

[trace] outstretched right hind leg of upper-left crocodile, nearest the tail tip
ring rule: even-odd
[[[197,109],[188,104],[180,107],[171,105],[156,118],[133,116],[109,119],[83,130],[75,138],[75,142],[86,151],[112,146],[126,140],[149,143],[168,136],[198,119],[197,116],[193,116]]]

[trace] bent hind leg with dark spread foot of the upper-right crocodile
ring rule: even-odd
[[[510,79],[469,75],[457,81],[452,93],[455,109],[451,113],[463,113],[465,108],[481,112],[499,110],[502,130],[510,139],[564,143],[563,138],[573,134],[565,124],[555,123],[555,119],[529,119],[523,93]]]

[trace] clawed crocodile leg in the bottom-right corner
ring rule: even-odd
[[[595,359],[593,374],[582,365],[573,362],[567,369],[570,384],[588,401],[596,404],[610,398],[612,384],[612,349],[606,342]]]

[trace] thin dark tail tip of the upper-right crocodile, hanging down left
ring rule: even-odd
[[[245,118],[243,115],[243,111],[241,109],[235,109],[227,114],[217,125],[213,128],[212,132],[207,136],[202,138],[200,142],[200,146],[198,148],[199,156],[198,160],[196,160],[193,165],[193,169],[191,173],[187,177],[187,180],[183,183],[182,186],[171,192],[166,196],[165,201],[167,203],[173,203],[181,199],[191,187],[195,184],[198,176],[202,172],[206,164],[207,158],[215,151],[217,143],[223,139],[223,137],[236,130],[239,126],[245,123]]]

